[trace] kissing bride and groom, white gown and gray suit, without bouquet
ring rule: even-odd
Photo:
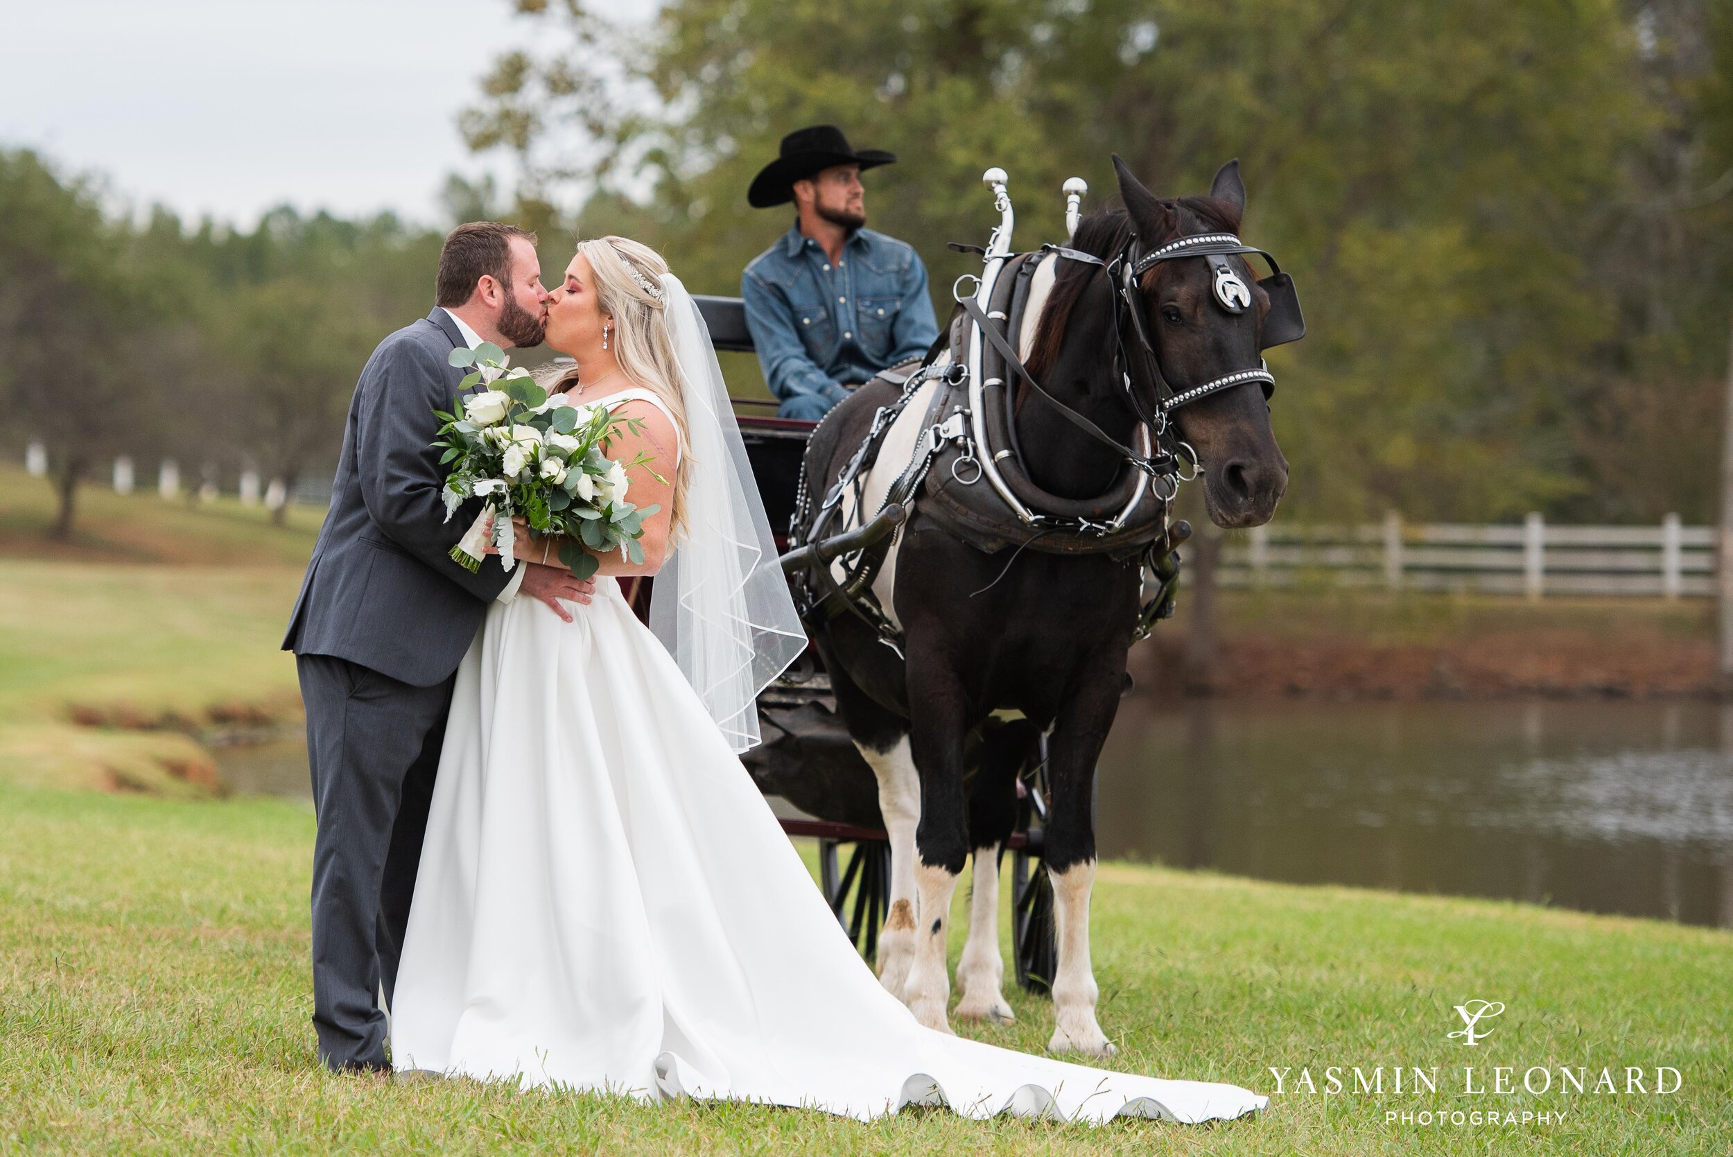
[[[360,372],[289,620],[307,703],[314,1027],[334,1070],[1100,1122],[1229,1119],[1232,1084],[1088,1069],[917,1024],[858,956],[738,753],[804,650],[709,333],[648,246],[463,225],[428,317]],[[477,573],[433,410],[454,348],[546,341],[551,393],[622,419],[643,563]],[[482,386],[485,388],[485,386]],[[633,421],[624,421],[633,419]],[[655,575],[645,627],[619,580]],[[390,1051],[388,1051],[390,1050]]]

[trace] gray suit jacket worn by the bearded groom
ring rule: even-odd
[[[348,405],[343,456],[282,650],[336,655],[430,688],[458,669],[508,575],[471,575],[449,551],[482,509],[445,521],[435,409],[451,410],[463,336],[445,310],[399,329],[367,359]]]

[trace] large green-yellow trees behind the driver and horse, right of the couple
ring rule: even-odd
[[[669,0],[634,31],[516,0],[463,126],[529,206],[730,293],[789,225],[747,208],[790,128],[898,152],[870,225],[941,317],[1010,171],[1022,248],[1066,177],[1161,194],[1237,156],[1244,236],[1310,336],[1272,352],[1284,518],[1709,521],[1733,305],[1733,7],[1714,0]]]

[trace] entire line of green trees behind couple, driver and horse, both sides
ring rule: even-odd
[[[1717,509],[1733,305],[1733,9],[1712,0],[669,0],[539,14],[461,126],[523,178],[452,180],[451,220],[660,248],[697,293],[789,227],[745,204],[790,128],[899,154],[870,225],[934,301],[995,223],[1062,237],[1066,177],[1120,152],[1163,194],[1241,158],[1244,225],[1295,274],[1310,336],[1272,352],[1295,469],[1282,518],[1657,521]],[[600,7],[600,5],[598,5]],[[118,211],[0,152],[9,449],[76,485],[114,454],[288,485],[331,469],[373,345],[423,315],[440,230],[277,210],[253,229]]]

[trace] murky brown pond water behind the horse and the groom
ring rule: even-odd
[[[217,752],[308,798],[300,740]],[[1104,857],[1733,927],[1733,707],[1120,705]]]

